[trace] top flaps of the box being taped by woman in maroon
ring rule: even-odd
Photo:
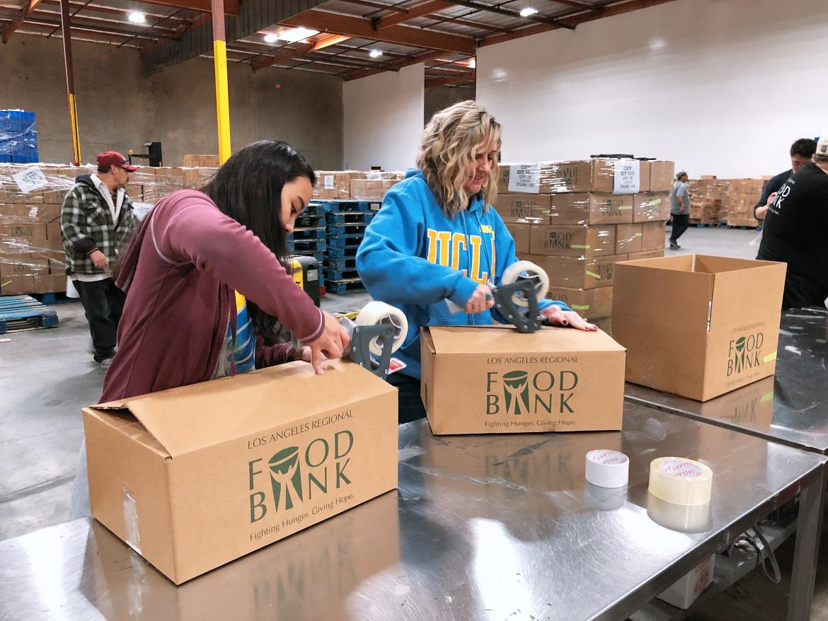
[[[128,410],[175,458],[394,390],[354,363],[295,362],[87,409]]]

